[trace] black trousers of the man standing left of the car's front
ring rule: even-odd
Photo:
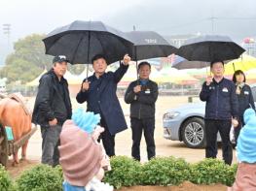
[[[147,144],[148,159],[156,156],[156,145],[154,140],[155,131],[155,118],[138,119],[130,118],[131,131],[132,131],[132,148],[131,156],[140,161],[140,141],[142,131],[144,130],[144,137]]]

